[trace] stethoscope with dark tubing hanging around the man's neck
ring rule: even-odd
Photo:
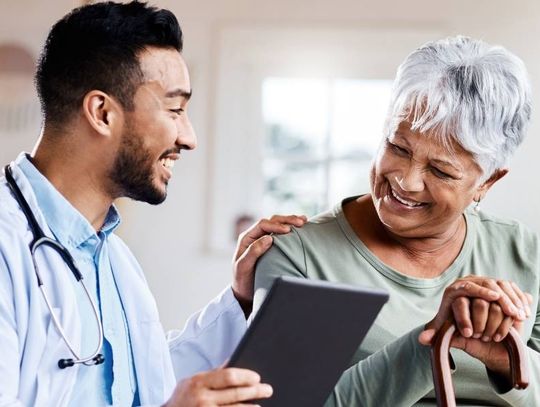
[[[54,326],[58,330],[58,333],[62,337],[63,341],[66,343],[67,347],[69,348],[69,351],[73,355],[73,358],[69,359],[60,359],[58,361],[58,367],[60,369],[65,369],[66,367],[70,367],[75,365],[76,363],[82,363],[86,366],[92,366],[92,365],[99,365],[105,361],[105,358],[100,353],[101,348],[103,346],[103,325],[101,324],[101,318],[98,312],[98,309],[96,307],[96,303],[92,300],[92,297],[90,296],[90,293],[88,292],[88,289],[86,288],[86,285],[83,282],[83,276],[77,266],[75,265],[75,261],[73,260],[73,257],[69,253],[69,251],[60,244],[57,240],[48,238],[45,236],[45,233],[43,233],[43,230],[37,223],[37,220],[32,213],[32,210],[30,209],[30,205],[28,205],[28,202],[26,202],[26,199],[24,198],[21,190],[19,189],[19,186],[17,185],[17,182],[15,181],[15,178],[13,178],[13,174],[11,172],[11,168],[9,165],[6,165],[4,168],[4,173],[6,175],[6,181],[8,183],[9,188],[13,192],[13,195],[15,196],[15,200],[20,205],[22,211],[24,212],[24,215],[26,216],[26,219],[28,220],[28,225],[30,226],[30,230],[32,231],[33,239],[30,242],[30,253],[32,254],[32,262],[34,263],[34,270],[36,272],[37,282],[39,289],[41,291],[41,294],[43,295],[43,299],[45,300],[45,303],[47,304],[47,308],[49,308],[49,312],[51,313],[51,317],[54,323]],[[79,283],[81,283],[84,292],[86,293],[86,296],[88,297],[88,300],[90,301],[90,304],[92,305],[92,310],[94,312],[94,317],[96,319],[96,323],[98,326],[98,334],[99,334],[99,341],[98,346],[94,353],[92,353],[88,357],[81,357],[75,352],[75,349],[73,346],[71,346],[71,342],[66,338],[66,333],[64,329],[62,328],[62,325],[60,324],[60,321],[58,320],[55,312],[52,309],[51,303],[49,302],[49,298],[47,297],[47,294],[45,294],[45,290],[43,289],[43,280],[41,279],[41,275],[39,273],[39,267],[36,262],[35,254],[37,249],[40,246],[48,246],[54,251],[56,251],[60,257],[65,261],[65,263],[68,265],[69,269],[77,279]]]

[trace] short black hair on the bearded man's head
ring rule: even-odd
[[[168,10],[133,1],[77,8],[49,32],[35,77],[45,121],[65,124],[91,90],[126,110],[143,82],[138,54],[147,47],[182,51],[182,30]]]

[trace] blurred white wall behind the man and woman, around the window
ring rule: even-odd
[[[121,234],[142,263],[156,295],[166,327],[178,327],[187,316],[223,287],[230,276],[230,256],[209,250],[210,215],[219,205],[216,193],[217,154],[238,155],[241,145],[216,149],[219,108],[219,44],[231,29],[268,27],[310,30],[409,29],[442,35],[465,34],[499,43],[518,54],[529,68],[533,92],[540,94],[540,2],[523,0],[183,0],[155,1],[172,9],[185,33],[185,57],[192,73],[194,97],[190,113],[199,147],[183,155],[175,168],[166,203],[154,208],[124,202]],[[47,28],[74,1],[0,0],[0,42],[16,41],[37,53]],[[385,50],[382,49],[381,52]],[[403,50],[405,54],[410,50]],[[393,59],[392,64],[394,64]],[[383,62],[381,62],[382,64]],[[390,61],[388,61],[390,63]],[[394,69],[393,67],[392,69]],[[388,69],[388,66],[381,67]],[[232,95],[230,103],[244,95]],[[540,113],[533,112],[529,136],[512,162],[510,174],[496,185],[483,207],[519,218],[540,231],[540,189],[536,181]],[[0,158],[30,148],[38,134],[0,139]],[[237,174],[234,182],[242,182]],[[231,249],[232,254],[232,249]]]

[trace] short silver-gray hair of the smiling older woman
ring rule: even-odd
[[[462,36],[430,42],[398,68],[385,134],[408,118],[448,148],[457,141],[486,180],[523,140],[530,94],[523,61],[503,47]]]

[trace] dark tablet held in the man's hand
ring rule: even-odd
[[[280,277],[228,366],[272,385],[261,406],[322,406],[387,300],[379,289]]]

